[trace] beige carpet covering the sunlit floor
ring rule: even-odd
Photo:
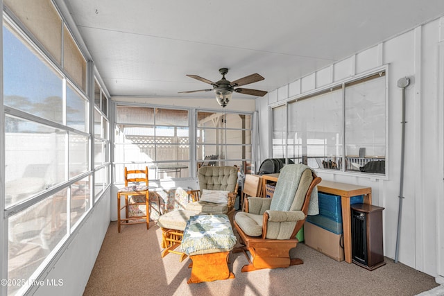
[[[291,252],[302,265],[241,272],[248,263],[244,254],[230,254],[235,279],[187,284],[191,260],[179,262],[176,254],[161,258],[161,237],[155,223],[149,230],[125,226],[120,234],[111,223],[84,295],[417,295],[439,286],[434,277],[391,259],[368,271],[303,243]]]

